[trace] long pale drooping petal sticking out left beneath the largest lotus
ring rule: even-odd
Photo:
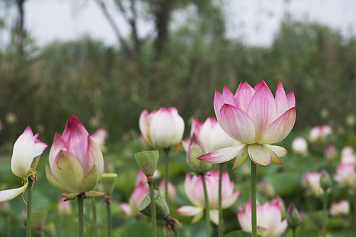
[[[246,144],[239,144],[236,147],[227,147],[223,149],[217,149],[216,151],[203,154],[197,159],[208,162],[208,163],[223,163],[227,162],[230,159],[234,159],[240,150],[244,148]]]

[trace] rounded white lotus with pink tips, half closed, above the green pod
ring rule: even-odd
[[[184,121],[175,107],[161,107],[150,114],[143,110],[139,123],[146,141],[157,149],[174,147],[182,140]]]

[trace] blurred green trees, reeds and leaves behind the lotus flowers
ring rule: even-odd
[[[4,2],[6,6],[11,5],[11,1]],[[108,7],[105,4],[110,4],[109,1],[97,2],[103,11]],[[166,9],[167,16],[161,16],[162,6],[151,6],[150,1],[117,0],[111,4],[120,2],[124,10],[119,9],[118,14],[131,11],[132,2],[145,6],[145,11],[137,11],[136,16],[132,12],[127,13],[127,20],[132,23],[138,18],[153,19],[157,22],[156,31],[148,37],[139,38],[135,35],[135,23],[132,23],[130,37],[118,36],[119,46],[106,46],[103,42],[83,36],[75,41],[55,41],[40,48],[36,45],[36,39],[19,22],[12,29],[11,43],[0,49],[0,178],[1,183],[5,183],[1,184],[1,189],[19,184],[19,180],[15,181],[10,172],[9,163],[14,142],[26,126],[30,125],[33,132],[40,132],[39,139],[50,147],[55,132],[63,132],[68,115],[77,116],[90,133],[99,127],[108,130],[105,159],[114,164],[119,180],[132,177],[132,183],[117,182],[114,193],[114,203],[117,204],[117,200],[127,201],[134,188],[137,166],[132,154],[150,149],[138,140],[138,118],[144,109],[151,111],[162,106],[177,107],[186,123],[184,137],[187,137],[192,117],[197,117],[199,121],[214,117],[215,89],[221,92],[227,85],[234,92],[241,80],[246,80],[250,85],[266,80],[274,93],[278,81],[282,80],[287,93],[294,90],[297,108],[295,127],[283,143],[288,150],[297,134],[306,137],[308,128],[328,123],[335,130],[342,130],[345,129],[345,117],[349,113],[356,114],[355,37],[342,38],[340,32],[328,26],[296,21],[286,16],[271,47],[248,46],[226,38],[221,1],[216,4],[212,0],[164,0],[162,4],[172,4],[169,10]],[[21,5],[16,6],[20,8]],[[188,8],[193,11],[187,16],[187,21],[174,30],[169,28],[172,12]],[[160,30],[159,20],[166,21],[166,26]],[[0,19],[0,26],[4,26],[4,21],[6,19]],[[167,32],[159,38],[159,31]],[[332,137],[329,142],[338,149],[345,144],[355,147],[355,133],[347,131],[344,135]],[[301,195],[300,178],[307,170],[320,171],[322,168],[332,174],[336,162],[331,164],[323,160],[323,149],[315,149],[315,157],[302,158],[288,154],[283,159],[286,164],[284,167],[258,167],[258,176],[271,181],[286,204],[294,201],[298,209],[321,209],[318,199],[305,202]],[[40,188],[36,187],[33,195],[38,195],[37,203],[42,205],[38,208],[48,208],[54,212],[60,193],[54,191],[45,178],[48,151],[46,149],[38,164],[38,177],[41,179],[36,186],[53,192],[40,192]],[[184,152],[174,155],[177,158],[175,163],[172,162],[169,174],[177,185],[178,194],[176,204],[170,208],[171,215],[178,218],[174,209],[187,204],[183,180],[188,168],[184,163]],[[231,164],[227,167],[231,167]],[[159,169],[163,172],[163,164]],[[249,194],[248,174],[243,169],[229,169],[229,172],[236,181],[236,188],[244,189],[238,200],[243,203]],[[343,189],[335,187],[332,190],[331,201],[347,196]],[[261,196],[259,198],[263,199]],[[21,198],[16,198],[14,205],[11,203],[14,213],[21,214],[22,202]],[[238,226],[236,212],[236,204],[224,211],[226,233]],[[140,236],[140,232],[135,231],[137,222],[132,218],[126,222],[122,220],[117,205],[112,214],[115,220],[114,236]],[[70,218],[76,219],[75,216]],[[90,222],[90,217],[86,218]],[[190,218],[179,216],[179,220],[182,218],[187,223],[182,228],[182,236],[204,236],[203,221],[189,225]],[[60,226],[57,228],[58,236],[70,236],[69,233],[74,236],[75,222],[63,222],[53,213],[48,215],[48,220]],[[337,221],[336,227],[330,228],[341,230],[338,236],[347,236],[342,232],[343,221]],[[126,226],[122,227],[121,223]],[[301,235],[318,236],[317,226],[305,223],[305,232]],[[139,229],[145,232],[147,228],[150,228],[149,224],[140,222]],[[24,228],[14,231],[21,234]],[[291,236],[291,233],[288,232],[287,236]]]

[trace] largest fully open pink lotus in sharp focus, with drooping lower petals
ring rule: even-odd
[[[276,97],[264,80],[251,88],[241,82],[234,95],[224,86],[223,93],[215,90],[214,110],[221,128],[241,144],[218,149],[198,159],[209,163],[222,163],[236,157],[234,167],[248,159],[260,166],[283,164],[280,157],[287,154],[283,147],[270,144],[281,142],[292,130],[295,122],[293,90],[286,96],[281,81]]]

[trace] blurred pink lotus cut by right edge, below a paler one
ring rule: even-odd
[[[356,172],[354,163],[339,163],[336,167],[336,174],[334,180],[339,186],[348,186],[356,188]]]

